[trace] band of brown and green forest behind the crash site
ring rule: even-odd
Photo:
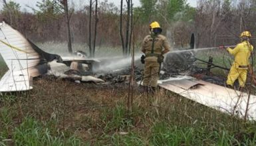
[[[120,0],[120,7],[106,1],[88,0],[80,9],[67,0],[43,0],[29,11],[21,11],[14,1],[1,1],[0,20],[9,23],[34,42],[82,43],[84,51],[94,56],[95,48],[108,46],[130,52],[131,44],[139,48],[148,26],[158,21],[174,47],[186,47],[195,34],[195,46],[235,45],[242,31],[256,34],[256,1],[198,0],[191,7],[186,0]],[[122,17],[121,17],[122,16]],[[255,38],[252,39],[254,42]],[[87,50],[88,49],[88,50]],[[81,49],[83,50],[83,48]]]

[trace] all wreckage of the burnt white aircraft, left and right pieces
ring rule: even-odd
[[[41,74],[85,82],[104,82],[104,80],[94,76],[79,74],[81,71],[91,70],[100,62],[99,60],[85,58],[82,52],[77,52],[78,55],[76,56],[68,57],[49,54],[9,25],[0,23],[0,29],[0,53],[9,68],[0,80],[0,92],[31,90],[33,78]],[[190,48],[193,48],[194,38],[192,40]],[[163,66],[165,72],[170,71],[170,69],[175,72],[181,67],[174,63],[174,60],[186,62],[188,66],[183,66],[182,70],[188,70],[197,58],[193,57],[192,52],[169,53]],[[182,62],[179,61],[178,63]],[[210,63],[209,65],[213,64]],[[192,76],[172,76],[171,78],[168,76],[166,80],[159,80],[159,86],[209,108],[256,120],[256,96],[254,95],[197,80]]]

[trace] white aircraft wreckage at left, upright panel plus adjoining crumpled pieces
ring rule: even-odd
[[[92,64],[99,62],[98,60],[83,56],[61,57],[57,54],[49,54],[6,23],[1,23],[0,29],[0,53],[9,68],[1,78],[0,92],[31,90],[33,78],[41,74],[86,82],[104,82],[93,76],[66,73],[70,69],[89,70]]]

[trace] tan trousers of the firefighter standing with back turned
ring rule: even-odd
[[[158,86],[159,69],[158,62],[145,61],[143,86]]]

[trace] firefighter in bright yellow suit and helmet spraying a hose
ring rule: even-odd
[[[247,78],[249,58],[253,52],[253,46],[249,42],[251,38],[249,31],[241,33],[240,38],[241,43],[237,44],[234,49],[227,48],[227,51],[235,57],[235,60],[229,70],[226,83],[228,86],[233,86],[233,83],[238,78],[239,87],[243,88]]]

